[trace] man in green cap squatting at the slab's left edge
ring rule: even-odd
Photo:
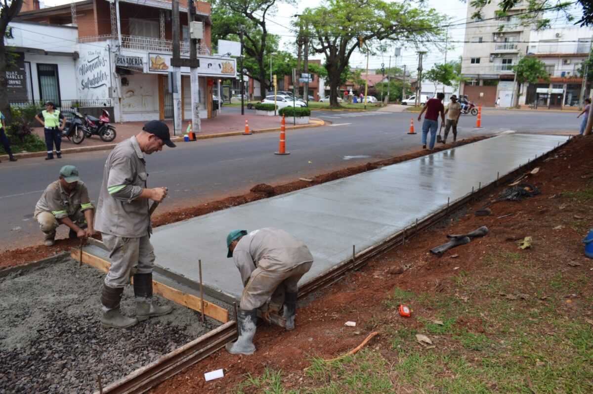
[[[33,215],[45,235],[45,246],[56,242],[60,224],[70,228],[70,238],[93,236],[93,205],[76,167],[62,167],[58,180],[50,183],[37,201]]]

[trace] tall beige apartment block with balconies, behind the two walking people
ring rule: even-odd
[[[527,10],[527,1],[521,1],[507,16],[496,18],[498,2],[483,8],[482,19],[474,18],[466,26],[461,73],[469,81],[462,82],[461,94],[483,106],[494,106],[500,97],[501,106],[512,103],[514,72],[512,66],[519,54],[527,53],[530,28],[522,26],[518,14]],[[467,17],[476,9],[468,4]]]

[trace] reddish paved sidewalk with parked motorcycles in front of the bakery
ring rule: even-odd
[[[246,115],[241,115],[240,113],[223,112],[218,113],[216,117],[212,117],[211,119],[202,119],[202,131],[199,133],[196,132],[196,137],[198,139],[201,139],[242,134],[245,131],[246,119],[249,122],[249,130],[254,133],[280,130],[280,120],[278,116],[255,115],[255,113],[253,112],[248,114],[246,113]],[[151,119],[146,119],[146,121],[148,120]],[[173,138],[173,120],[165,120],[164,122],[167,123],[167,126],[169,126],[169,129],[171,130],[171,139],[173,139],[173,141],[183,141],[183,135],[187,130],[189,120],[183,120],[181,132],[177,131],[176,133],[177,138]],[[68,141],[68,139],[63,138],[62,152],[67,154],[110,149],[112,145],[119,144],[119,142],[122,142],[123,140],[130,138],[132,135],[136,135],[139,131],[142,130],[142,126],[144,126],[144,123],[145,122],[112,123],[117,130],[117,136],[111,142],[101,141],[101,139],[98,136],[93,135],[91,138],[85,138],[81,144],[76,145],[74,144],[74,142]],[[323,125],[323,120],[311,118],[308,125],[292,126],[287,122],[286,130],[317,127]],[[195,128],[194,131],[196,131]],[[39,135],[39,137],[43,141],[43,128],[36,127],[33,129],[33,132]],[[46,152],[44,151],[27,153],[15,152],[15,157],[17,158],[41,157],[45,155]],[[8,155],[0,156],[0,160],[8,160]]]

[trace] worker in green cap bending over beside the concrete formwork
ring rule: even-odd
[[[313,255],[294,236],[271,227],[251,233],[233,230],[227,236],[227,247],[227,258],[232,257],[239,269],[244,289],[237,317],[239,338],[226,348],[231,354],[253,354],[257,309],[270,322],[270,314],[278,314],[284,304],[286,330],[294,329],[298,281],[311,269]]]

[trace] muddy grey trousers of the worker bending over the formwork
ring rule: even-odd
[[[267,300],[270,301],[270,309],[278,311],[284,303],[285,293],[297,293],[298,281],[311,269],[313,262],[306,262],[297,265],[286,272],[266,271],[256,268],[251,272],[251,277],[243,289],[240,308],[252,310],[264,306]],[[264,308],[264,310],[266,310]]]

